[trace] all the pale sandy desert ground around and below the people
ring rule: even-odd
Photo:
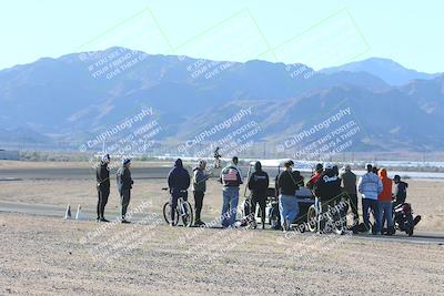
[[[164,165],[134,163],[134,172]],[[87,213],[75,221],[0,212],[0,295],[443,295],[444,239],[169,227],[161,214],[165,180],[137,174],[131,208],[141,208],[143,220],[97,223],[88,164],[0,162],[3,172],[61,166],[85,173],[0,182],[0,204],[48,205],[61,213],[80,204]],[[444,236],[444,182],[407,182],[407,198],[423,217],[417,233]],[[221,200],[221,186],[211,180],[205,222],[216,222]],[[111,182],[107,217],[118,211]]]

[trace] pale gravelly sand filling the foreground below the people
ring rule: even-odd
[[[107,224],[111,226],[94,236],[91,234],[99,233],[103,224],[0,214],[0,294],[443,293],[442,245],[334,235],[285,238],[271,231],[171,228],[155,220],[150,224]],[[118,235],[128,237],[128,232],[131,237],[124,244],[129,249],[124,249],[117,243]],[[108,263],[103,258],[109,258]]]

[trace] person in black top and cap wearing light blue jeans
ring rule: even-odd
[[[301,180],[293,174],[293,162],[284,163],[284,171],[278,176],[279,211],[281,214],[281,226],[283,232],[290,229],[291,224],[299,214],[296,191]]]

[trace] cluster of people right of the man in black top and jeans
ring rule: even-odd
[[[357,181],[350,165],[345,165],[340,172],[335,165],[317,164],[315,174],[307,182],[307,187],[312,188],[319,198],[321,214],[329,211],[329,206],[332,208],[337,205],[337,201],[343,201],[346,206],[340,212],[345,216],[350,205],[353,213],[353,224],[350,228],[353,233],[359,232],[357,192],[361,193],[364,231],[382,234],[386,222],[385,233],[392,235],[394,234],[393,206],[405,202],[408,184],[401,181],[400,175],[395,175],[392,181],[384,167],[379,170],[372,164],[366,164],[365,169],[366,173]],[[392,183],[395,185],[393,193]],[[375,222],[373,227],[370,224],[371,214]],[[322,232],[324,223],[321,221],[319,225]]]

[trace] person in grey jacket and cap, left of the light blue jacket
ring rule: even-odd
[[[350,207],[353,213],[353,225],[350,227],[354,234],[357,233],[357,226],[360,223],[360,215],[357,214],[357,190],[356,190],[356,175],[352,172],[350,164],[346,164],[340,174],[342,187],[344,192],[349,195]],[[346,207],[345,213],[349,212]]]

